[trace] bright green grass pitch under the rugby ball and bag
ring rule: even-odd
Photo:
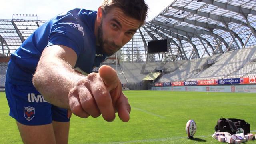
[[[241,118],[256,133],[256,95],[242,93],[125,91],[130,121],[71,118],[69,144],[219,144],[211,136],[220,117]],[[0,143],[21,144],[4,92],[0,93]],[[197,124],[195,140],[186,138],[185,125]],[[246,144],[254,144],[248,141]]]

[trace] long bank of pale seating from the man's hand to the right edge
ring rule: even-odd
[[[112,67],[116,69],[116,66]],[[159,67],[164,68],[165,71],[157,82],[252,77],[256,76],[256,47],[165,64],[163,62],[122,64],[121,62],[120,65],[118,64],[117,73],[122,83],[140,83],[148,72],[157,72]]]

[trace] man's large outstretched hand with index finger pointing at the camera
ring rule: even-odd
[[[118,112],[123,122],[130,119],[130,104],[122,93],[116,71],[110,66],[103,65],[99,73],[90,73],[78,81],[68,97],[72,113],[82,118],[96,118],[102,114],[104,120],[111,122]]]

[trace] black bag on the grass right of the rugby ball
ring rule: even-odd
[[[244,131],[243,131],[244,130]],[[250,133],[250,124],[242,119],[236,118],[220,118],[215,126],[216,132],[228,132],[230,134]]]

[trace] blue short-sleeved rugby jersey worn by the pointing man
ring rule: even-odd
[[[75,69],[90,73],[106,59],[96,46],[94,24],[96,11],[74,9],[59,14],[44,23],[11,54],[6,80],[16,85],[32,86],[36,66],[47,46],[59,44],[72,48],[77,54]]]

